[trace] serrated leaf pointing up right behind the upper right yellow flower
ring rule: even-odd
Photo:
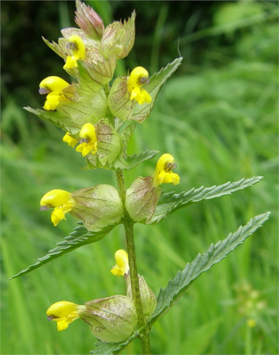
[[[142,105],[135,103],[133,105],[133,113],[130,119],[134,119],[135,121],[142,123],[147,117],[149,117],[151,110],[156,103],[156,97],[160,88],[180,66],[182,59],[182,57],[174,59],[172,63],[167,64],[165,68],[162,68],[158,73],[151,76],[149,79],[149,84],[144,85],[143,88],[146,90],[146,92],[149,92],[152,101],[151,103],[144,103]]]

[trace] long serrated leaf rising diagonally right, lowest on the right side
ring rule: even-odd
[[[270,212],[258,215],[248,222],[246,226],[240,226],[234,233],[229,233],[227,238],[219,241],[216,245],[211,244],[204,254],[198,254],[192,263],[188,263],[186,268],[176,274],[174,280],[169,280],[165,289],[160,289],[157,298],[157,307],[153,313],[149,325],[154,324],[163,317],[185,293],[190,285],[206,270],[219,263],[222,259],[232,252],[237,246],[254,233],[259,227],[269,219]]]

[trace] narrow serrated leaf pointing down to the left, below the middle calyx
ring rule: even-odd
[[[83,245],[98,242],[98,240],[101,240],[107,236],[107,234],[114,228],[114,226],[107,226],[99,232],[89,232],[82,222],[77,222],[77,224],[79,224],[79,226],[75,227],[73,232],[70,233],[70,236],[64,238],[63,242],[58,242],[56,244],[57,247],[51,249],[47,255],[43,256],[43,258],[39,258],[36,263],[29,266],[27,269],[20,271],[17,275],[10,277],[8,280],[30,273],[30,271],[40,268],[40,266],[45,263],[49,263],[50,261],[72,252]]]

